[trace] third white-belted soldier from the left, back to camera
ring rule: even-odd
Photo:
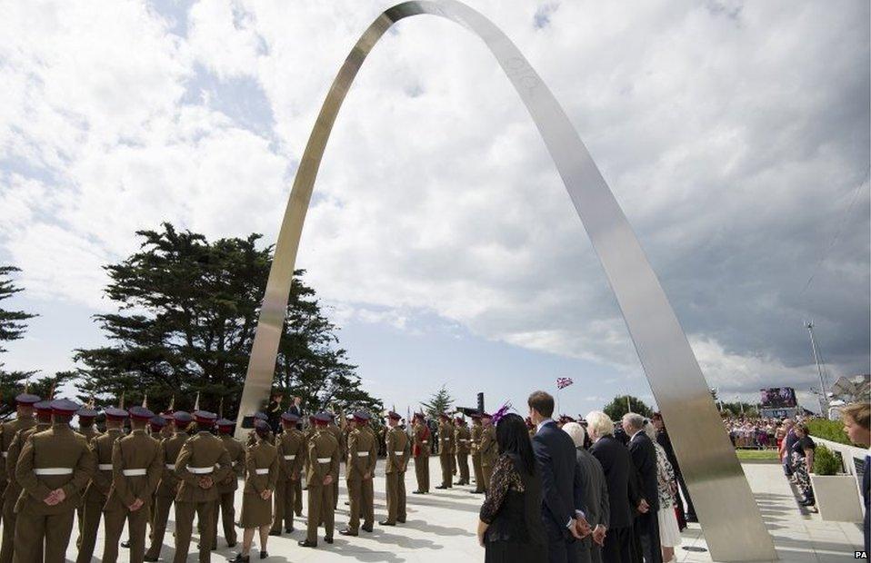
[[[129,435],[115,440],[112,446],[112,489],[105,501],[105,548],[103,561],[115,563],[118,541],[129,524],[130,561],[141,563],[145,557],[145,526],[148,523],[152,495],[164,469],[164,452],[160,442],[148,436],[145,428],[155,416],[145,407],[131,407]]]

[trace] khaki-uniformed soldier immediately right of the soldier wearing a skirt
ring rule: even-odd
[[[278,445],[278,483],[275,489],[275,519],[272,523],[273,536],[281,535],[282,524],[285,532],[294,531],[294,510],[297,495],[302,494],[301,473],[305,464],[305,436],[296,430],[299,417],[292,412],[281,415],[284,430],[277,439]]]

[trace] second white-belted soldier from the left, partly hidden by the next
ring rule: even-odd
[[[115,440],[124,438],[124,421],[127,411],[108,408],[105,413],[105,433],[91,440],[90,448],[94,452],[96,471],[94,477],[85,489],[81,537],[78,545],[78,557],[75,563],[90,563],[94,557],[96,533],[103,517],[105,499],[112,487],[112,448]],[[115,548],[117,550],[117,548]]]

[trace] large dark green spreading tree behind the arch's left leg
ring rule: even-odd
[[[82,397],[115,397],[163,409],[216,411],[238,408],[257,316],[272,264],[272,247],[258,248],[259,234],[214,242],[199,233],[179,232],[170,223],[158,231],[136,232],[138,252],[105,266],[105,296],[117,311],[95,315],[106,346],[75,351]],[[335,326],[327,321],[315,291],[295,272],[275,386],[300,395],[308,409],[325,402],[345,409],[377,405],[360,389],[355,366],[336,349]]]

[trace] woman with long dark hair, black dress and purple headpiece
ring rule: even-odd
[[[486,563],[547,560],[541,521],[541,476],[524,420],[506,414],[496,423],[499,458],[481,507],[478,541]]]

